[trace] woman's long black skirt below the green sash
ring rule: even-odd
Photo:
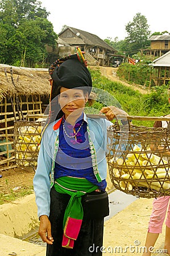
[[[51,189],[49,221],[53,245],[47,244],[46,256],[101,256],[103,243],[103,218],[89,219],[84,216],[78,238],[73,249],[61,246],[63,240],[63,217],[71,196]]]

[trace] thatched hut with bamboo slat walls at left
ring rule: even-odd
[[[48,69],[0,64],[0,171],[16,167],[14,122],[44,113],[51,86]]]

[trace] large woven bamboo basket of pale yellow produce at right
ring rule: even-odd
[[[168,128],[126,125],[107,129],[109,175],[114,187],[137,197],[170,195]]]

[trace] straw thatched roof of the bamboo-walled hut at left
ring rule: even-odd
[[[11,80],[11,68],[15,86]],[[47,96],[51,90],[49,79],[47,68],[22,68],[0,64],[0,96],[13,96],[14,94]]]

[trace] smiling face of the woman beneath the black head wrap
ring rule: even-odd
[[[59,104],[65,114],[65,119],[70,117],[77,118],[84,110],[88,94],[84,94],[81,89],[67,89],[61,87],[59,95]]]

